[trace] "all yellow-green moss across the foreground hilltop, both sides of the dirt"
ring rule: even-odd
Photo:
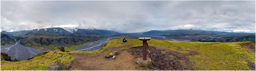
[[[128,42],[123,43],[122,39],[113,39],[105,43],[105,47],[102,47],[94,51],[75,51],[70,53],[80,53],[86,55],[92,55],[100,53],[111,48],[121,47],[129,45],[132,47],[142,46],[142,41],[138,39],[128,39]],[[189,65],[195,70],[249,70],[248,62],[255,63],[255,55],[248,52],[245,48],[241,47],[245,42],[233,42],[233,43],[220,43],[220,42],[190,42],[190,41],[171,41],[171,40],[156,40],[150,39],[147,41],[149,46],[159,47],[164,49],[170,49],[182,54],[189,54],[190,51],[198,52],[198,55],[187,56]],[[66,48],[67,49],[67,48]],[[58,54],[60,53],[60,54]],[[63,54],[63,55],[61,55]],[[66,54],[66,55],[64,55]],[[68,59],[71,57],[72,59]],[[13,67],[17,70],[40,70],[49,66],[50,63],[54,63],[56,60],[60,60],[65,66],[69,65],[75,57],[68,55],[67,52],[50,51],[46,55],[37,56],[31,60],[8,62],[2,61],[2,66]],[[43,65],[42,65],[42,62]],[[41,66],[40,66],[41,65]],[[45,65],[45,66],[44,66]],[[1,68],[2,68],[1,66]],[[15,67],[14,67],[15,66]],[[22,68],[22,69],[21,69]]]

